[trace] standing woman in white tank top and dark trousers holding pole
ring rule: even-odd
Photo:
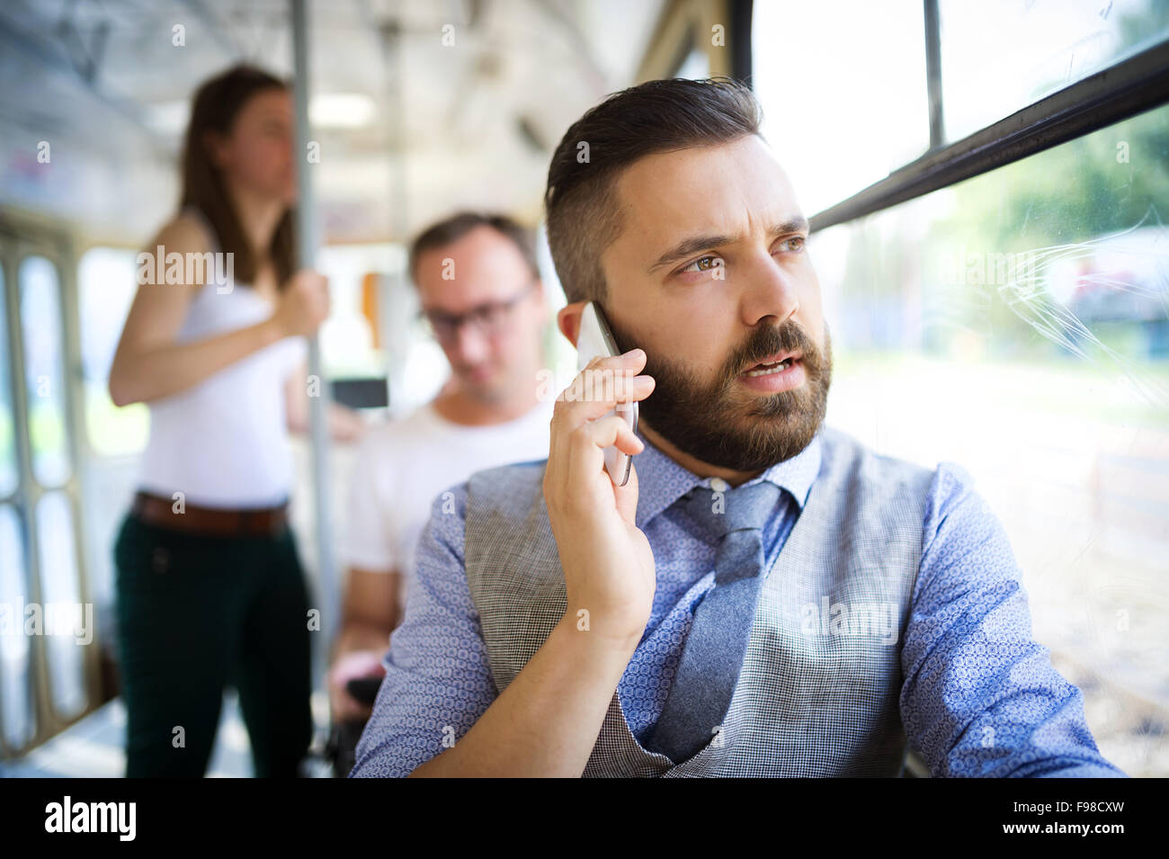
[[[113,402],[151,413],[115,546],[129,776],[202,776],[228,684],[257,776],[297,775],[312,737],[288,429],[304,422],[304,338],[328,293],[296,271],[292,138],[276,77],[237,67],[199,89],[180,212],[150,245],[179,254],[182,277],[139,268],[110,370]],[[334,435],[355,432],[352,413],[330,418]]]

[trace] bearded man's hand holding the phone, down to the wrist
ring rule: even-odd
[[[624,486],[615,486],[604,449],[615,444],[632,456],[644,445],[620,415],[597,418],[618,402],[652,393],[652,376],[634,375],[644,366],[645,353],[634,349],[596,358],[581,370],[553,410],[544,474],[548,521],[565,570],[566,619],[577,629],[587,619],[594,635],[635,646],[653,605],[653,552],[635,525],[637,469]]]

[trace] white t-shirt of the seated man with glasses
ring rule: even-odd
[[[552,400],[506,423],[452,423],[427,403],[369,431],[354,456],[343,557],[350,567],[402,574],[400,608],[414,549],[440,492],[476,471],[548,456]]]

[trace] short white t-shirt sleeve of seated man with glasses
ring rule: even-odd
[[[379,432],[371,432],[353,457],[343,556],[348,567],[371,573],[406,573],[400,568],[390,528],[394,507],[379,491],[381,483],[392,478],[385,473],[385,458],[378,456],[379,444],[385,443]]]

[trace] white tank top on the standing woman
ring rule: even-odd
[[[194,210],[191,210],[194,212]],[[207,241],[219,250],[202,215]],[[272,306],[250,286],[220,292],[214,283],[192,298],[180,342],[263,321]],[[206,507],[268,507],[292,487],[284,382],[304,360],[304,338],[285,338],[224,367],[202,382],[148,403],[150,442],[139,465],[146,492]]]

